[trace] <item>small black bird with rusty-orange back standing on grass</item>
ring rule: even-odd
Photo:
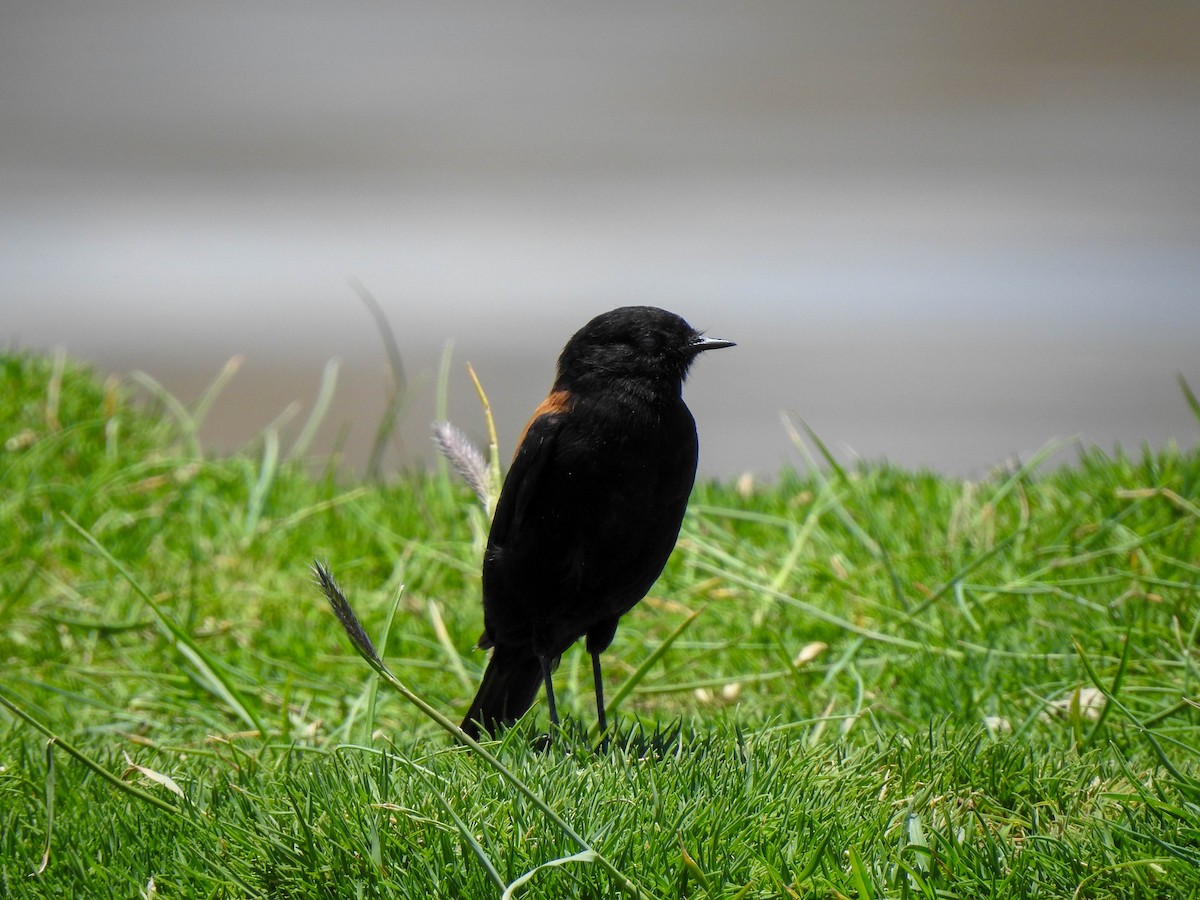
[[[674,313],[625,306],[596,316],[558,358],[504,480],[484,556],[484,634],[492,658],[462,728],[511,725],[587,638],[600,732],[600,653],[646,596],[679,536],[696,479],[696,422],[683,380],[704,337]]]

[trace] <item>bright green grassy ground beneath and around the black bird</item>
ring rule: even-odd
[[[215,400],[0,355],[0,895],[1200,896],[1200,452],[702,484],[612,750],[574,650],[497,767],[310,574],[456,718],[468,490],[204,457]]]

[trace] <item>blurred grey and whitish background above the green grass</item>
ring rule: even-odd
[[[652,304],[738,342],[686,395],[710,475],[982,475],[1198,424],[1200,5],[5,4],[0,344],[143,370],[217,450],[343,362],[313,455],[502,452],[566,337]],[[284,444],[286,446],[286,444]],[[1068,457],[1069,458],[1069,455]]]

